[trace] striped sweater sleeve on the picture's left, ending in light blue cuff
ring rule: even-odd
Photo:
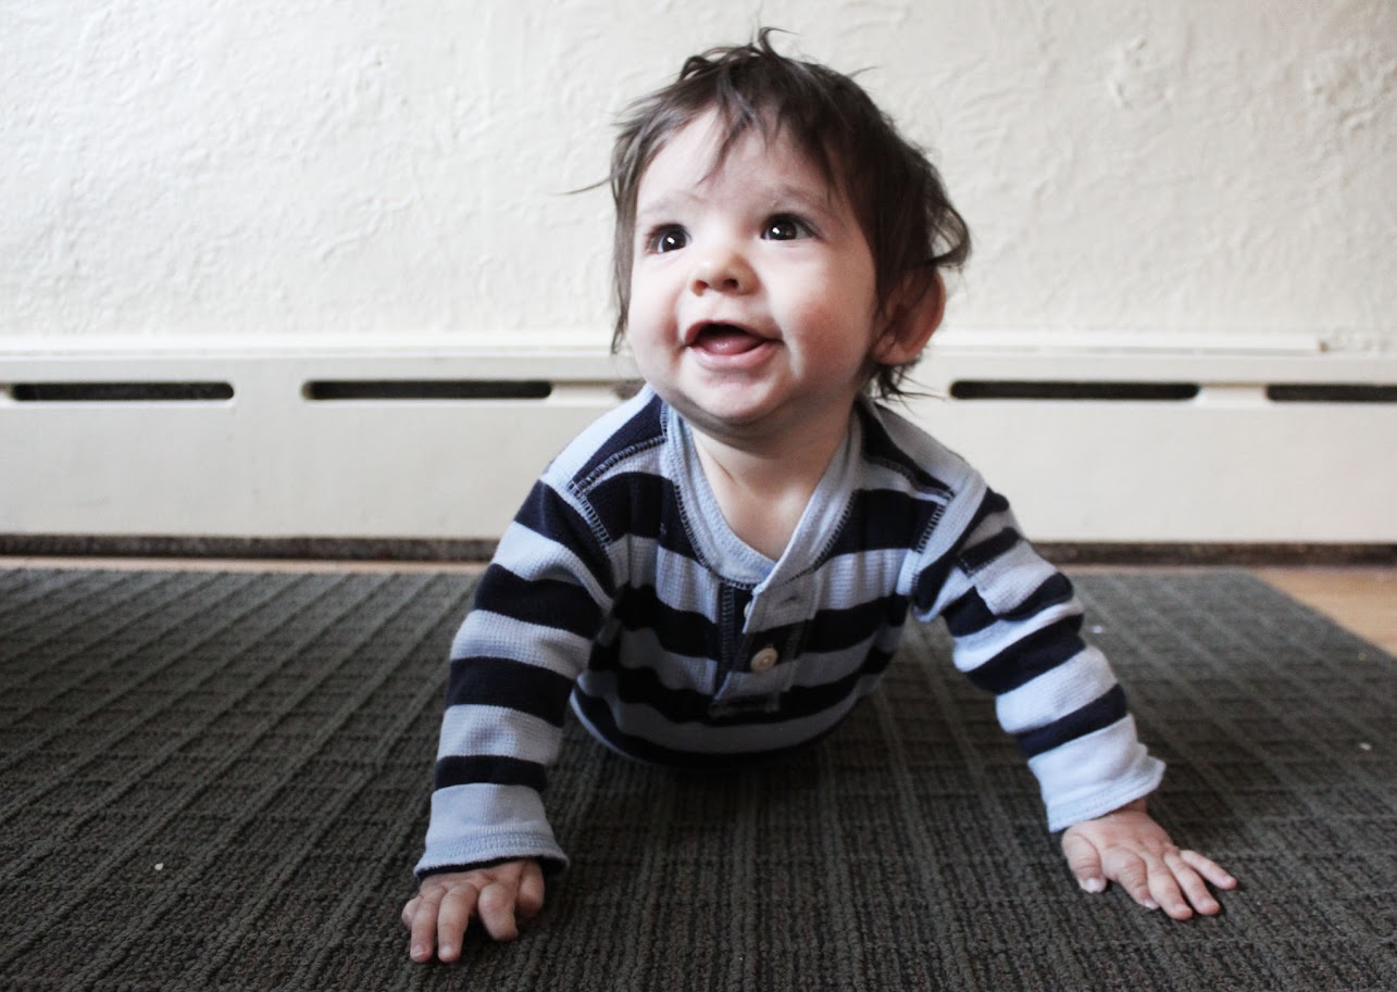
[[[585,515],[539,481],[451,647],[419,876],[509,858],[567,864],[542,792],[612,590]]]

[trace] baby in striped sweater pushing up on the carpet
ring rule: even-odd
[[[1067,579],[873,399],[898,395],[970,251],[936,169],[764,31],[634,105],[610,179],[616,340],[645,386],[549,466],[457,635],[412,959],[458,959],[472,918],[513,939],[542,907],[566,865],[541,792],[569,705],[637,760],[770,762],[838,727],[933,617],[1081,887],[1218,912],[1208,883],[1236,883],[1146,812],[1164,766]]]

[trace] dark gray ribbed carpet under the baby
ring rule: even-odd
[[[0,988],[1397,988],[1393,659],[1245,575],[1080,589],[1171,763],[1157,813],[1243,880],[1224,915],[1083,894],[926,628],[778,767],[570,727],[574,868],[520,942],[419,967],[398,911],[468,576],[0,571]]]

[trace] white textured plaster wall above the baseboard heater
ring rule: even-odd
[[[1391,0],[3,0],[0,338],[605,340],[566,191],[759,21],[936,149],[956,328],[1397,350]]]

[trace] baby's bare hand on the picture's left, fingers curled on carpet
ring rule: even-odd
[[[402,907],[402,924],[412,931],[414,961],[430,961],[433,950],[443,961],[455,961],[472,917],[496,940],[513,940],[520,935],[518,921],[532,919],[542,908],[543,871],[527,858],[426,876]]]

